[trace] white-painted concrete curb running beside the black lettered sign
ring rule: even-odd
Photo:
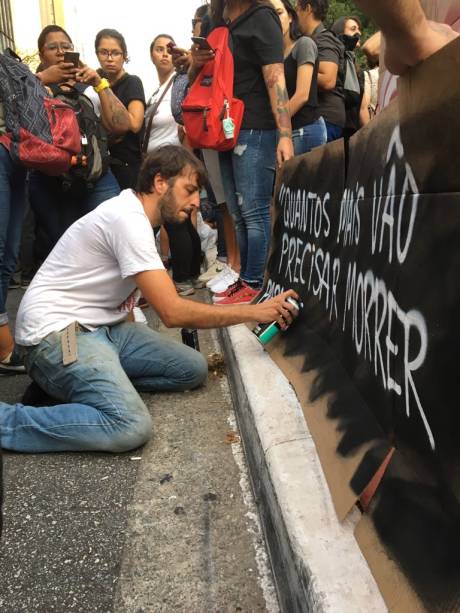
[[[294,390],[246,326],[221,330],[228,376],[283,611],[387,611],[353,529],[340,524]]]

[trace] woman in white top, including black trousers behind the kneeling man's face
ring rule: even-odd
[[[160,86],[148,101],[145,112],[144,139],[148,139],[147,152],[162,145],[180,145],[179,126],[171,112],[171,91],[175,70],[168,43],[175,45],[172,36],[159,34],[150,45],[150,57],[157,69]],[[194,222],[196,225],[196,217]],[[178,293],[183,296],[193,294],[195,288],[204,286],[204,283],[198,280],[201,241],[195,225],[190,219],[183,224],[165,224],[160,234],[162,258],[167,256],[169,250],[173,280]]]

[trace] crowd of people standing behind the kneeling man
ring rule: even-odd
[[[357,17],[344,17],[339,20],[343,31],[337,24],[328,30],[323,25],[327,9],[327,0],[300,0],[296,9],[289,0],[213,2],[199,6],[193,15],[195,36],[206,36],[213,25],[223,21],[230,25],[235,95],[245,103],[245,113],[241,147],[223,154],[213,150],[196,152],[208,171],[208,200],[216,205],[211,218],[219,221],[217,257],[207,260],[207,270],[202,270],[196,215],[184,226],[166,225],[160,230],[163,261],[171,266],[182,295],[207,283],[213,286],[218,304],[249,302],[263,279],[277,162],[359,127],[356,117],[360,97],[351,113],[354,119],[347,117],[343,55],[347,46],[353,47],[353,41],[355,46],[359,44],[361,24]],[[74,46],[69,33],[60,26],[45,27],[37,46],[37,78],[52,91],[61,86],[75,88],[90,99],[101,130],[106,133],[109,157],[93,182],[69,184],[65,177],[49,177],[38,171],[31,171],[26,183],[23,176],[19,180],[27,190],[15,198],[11,207],[14,216],[7,231],[11,252],[2,263],[6,270],[2,274],[5,289],[0,311],[5,321],[6,293],[15,271],[26,201],[30,203],[37,238],[33,253],[40,262],[79,217],[120,190],[136,187],[143,154],[165,144],[187,146],[186,134],[178,123],[180,117],[173,113],[174,104],[180,107],[193,75],[212,58],[212,54],[206,56],[196,46],[179,49],[171,34],[157,34],[150,45],[150,57],[159,86],[146,100],[142,81],[126,70],[128,49],[123,35],[116,30],[107,28],[95,37],[100,64],[97,69],[82,61],[78,66],[65,61],[65,53],[73,51]],[[282,103],[277,99],[277,88],[285,96]],[[364,84],[362,90],[364,93]],[[21,172],[24,173],[19,169]],[[6,340],[0,340],[0,362],[12,346],[11,335],[3,333],[2,337]]]

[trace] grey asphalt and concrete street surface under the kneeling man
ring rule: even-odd
[[[13,319],[21,295],[10,292]],[[215,332],[200,345],[220,352]],[[17,402],[28,382],[1,377],[0,399]],[[4,452],[2,613],[278,611],[225,372],[143,398],[143,449]]]

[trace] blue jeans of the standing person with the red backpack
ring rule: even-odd
[[[233,151],[219,154],[240,249],[241,278],[254,287],[262,285],[270,246],[276,145],[276,130],[241,130]]]

